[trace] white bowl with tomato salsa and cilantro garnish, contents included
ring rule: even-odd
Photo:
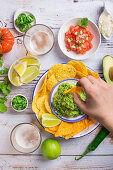
[[[101,36],[96,24],[88,18],[74,18],[64,23],[59,30],[58,44],[69,58],[83,60],[99,48]]]

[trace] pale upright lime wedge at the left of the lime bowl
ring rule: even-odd
[[[27,68],[27,62],[22,62],[14,66],[14,69],[19,74],[19,76],[22,76],[24,74],[26,68]]]

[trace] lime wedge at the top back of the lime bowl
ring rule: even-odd
[[[32,59],[32,58],[26,58],[26,59],[22,59],[19,61],[19,63],[23,63],[23,62],[27,62],[27,65],[38,65],[40,66],[40,62],[36,59]]]

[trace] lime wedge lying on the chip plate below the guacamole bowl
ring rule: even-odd
[[[54,127],[61,123],[61,120],[58,119],[55,115],[50,113],[44,113],[42,115],[42,125],[44,127]]]

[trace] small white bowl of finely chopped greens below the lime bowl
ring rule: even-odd
[[[12,108],[17,112],[24,111],[28,106],[28,100],[25,96],[18,94],[11,101]]]

